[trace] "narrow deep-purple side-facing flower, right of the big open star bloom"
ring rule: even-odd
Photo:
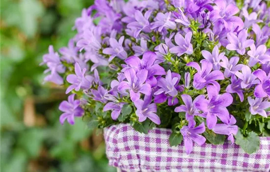
[[[237,79],[235,75],[232,75],[231,82],[232,82],[232,84],[230,84],[226,87],[226,92],[237,93],[237,95],[240,98],[240,101],[243,102],[244,95],[243,95],[243,89],[241,87],[242,80]]]

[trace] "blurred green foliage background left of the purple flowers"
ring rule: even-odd
[[[102,134],[81,119],[60,125],[64,90],[43,82],[48,46],[67,46],[93,0],[0,0],[1,172],[115,172]],[[100,131],[99,131],[100,132]]]

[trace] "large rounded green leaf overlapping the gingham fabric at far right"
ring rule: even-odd
[[[244,137],[241,131],[238,131],[235,136],[236,144],[248,154],[256,152],[260,148],[260,138],[259,136],[251,131],[247,137]]]

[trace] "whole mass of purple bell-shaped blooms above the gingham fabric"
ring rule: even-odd
[[[95,0],[76,19],[68,47],[58,54],[50,46],[44,55],[45,81],[73,93],[59,106],[62,124],[74,124],[93,102],[115,121],[130,104],[133,120],[157,126],[158,109],[173,108],[186,115],[180,132],[187,153],[193,142],[206,142],[206,127],[234,143],[230,106],[270,115],[269,24],[263,0],[245,0],[241,11],[234,0]],[[108,84],[101,69],[111,72]]]

